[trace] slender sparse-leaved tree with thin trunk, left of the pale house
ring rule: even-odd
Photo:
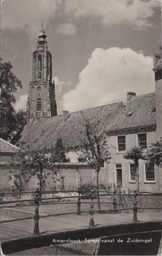
[[[83,114],[82,117],[84,122],[81,124],[83,126],[83,131],[81,131],[81,158],[84,158],[88,166],[92,166],[96,173],[98,210],[100,210],[99,173],[103,166],[103,161],[109,162],[111,156],[103,125],[99,121],[92,123]]]

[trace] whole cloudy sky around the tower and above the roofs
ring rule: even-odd
[[[12,61],[25,108],[31,54],[42,20],[53,54],[59,113],[126,102],[154,91],[153,54],[161,38],[158,0],[3,0],[3,60]]]

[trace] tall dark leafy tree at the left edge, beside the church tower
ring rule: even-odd
[[[19,122],[23,115],[15,113],[14,103],[18,88],[22,88],[20,79],[18,79],[13,71],[11,62],[3,62],[0,60],[0,137],[7,140],[18,132],[18,128],[24,125],[24,121]],[[24,118],[25,119],[25,118]],[[24,127],[24,126],[23,126]]]

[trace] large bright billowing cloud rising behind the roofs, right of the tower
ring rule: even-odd
[[[153,59],[130,48],[95,49],[79,74],[75,90],[65,93],[64,109],[92,108],[112,102],[126,102],[127,91],[137,95],[154,91]]]

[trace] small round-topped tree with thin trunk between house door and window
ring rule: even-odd
[[[131,148],[124,154],[124,158],[133,160],[135,163],[136,168],[136,185],[137,185],[137,192],[139,192],[139,160],[144,159],[143,157],[143,148],[135,146]]]

